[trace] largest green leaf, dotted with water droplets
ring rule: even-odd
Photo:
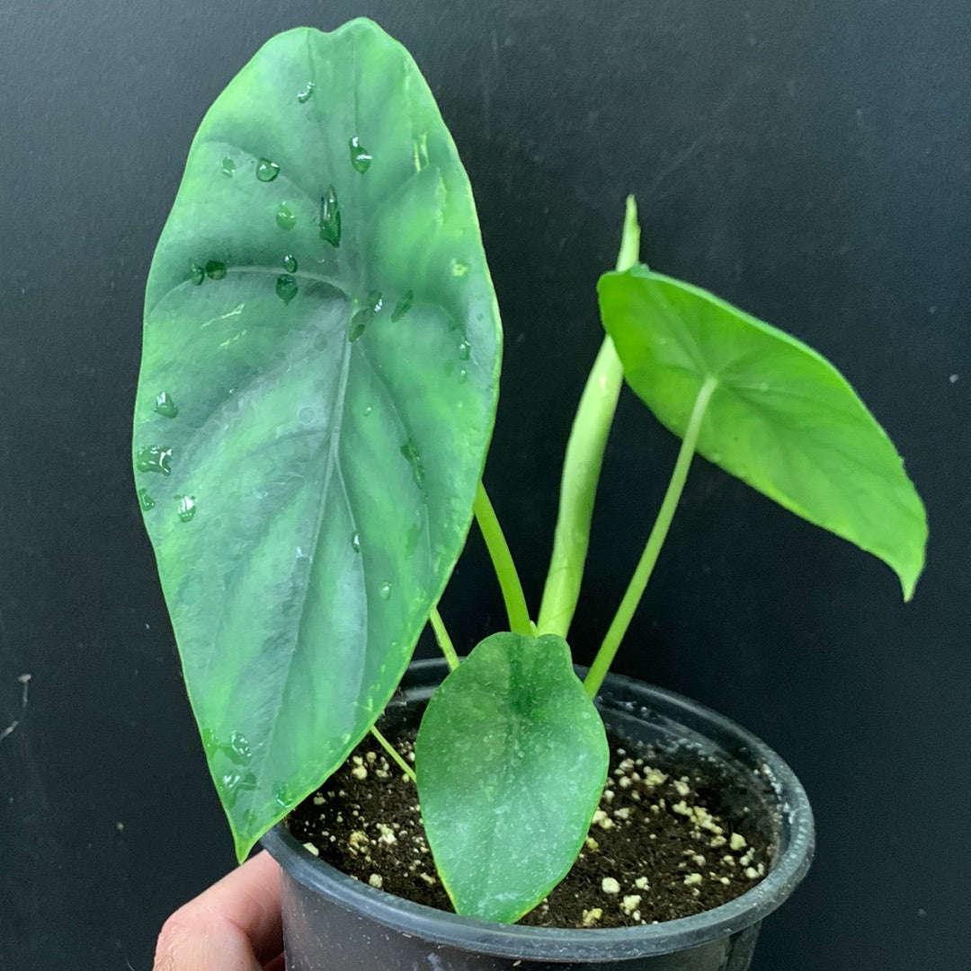
[[[500,345],[468,179],[407,51],[366,20],[267,43],[192,144],[134,429],[240,855],[398,685],[468,532]]]

